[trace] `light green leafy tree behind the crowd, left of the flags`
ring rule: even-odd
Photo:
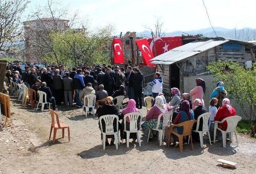
[[[112,26],[90,33],[86,29],[68,29],[50,34],[53,52],[46,54],[45,61],[68,66],[109,63]]]

